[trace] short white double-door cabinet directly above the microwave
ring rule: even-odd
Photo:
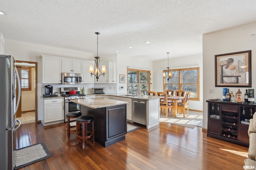
[[[62,72],[82,73],[82,61],[62,59]]]

